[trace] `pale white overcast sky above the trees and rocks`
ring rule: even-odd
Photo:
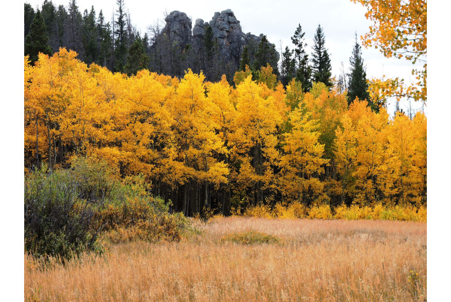
[[[43,0],[29,0],[35,8],[41,6]],[[67,6],[68,0],[52,0],[57,6]],[[78,0],[77,5],[81,12],[91,9],[94,5],[96,13],[103,10],[105,19],[109,20],[113,9],[116,8],[115,0]],[[297,0],[297,1],[269,1],[269,0],[228,0],[219,1],[137,1],[125,0],[125,7],[130,11],[132,23],[137,25],[141,33],[145,32],[147,25],[162,19],[163,11],[171,12],[178,10],[185,12],[192,18],[193,26],[196,19],[201,18],[204,22],[211,20],[215,11],[230,8],[237,19],[241,22],[244,32],[259,35],[266,34],[269,42],[276,44],[282,40],[283,48],[293,48],[290,37],[293,35],[298,24],[301,24],[305,32],[305,43],[308,44],[307,51],[310,54],[313,45],[313,36],[318,24],[324,30],[326,36],[326,47],[332,62],[332,75],[340,72],[340,62],[344,62],[345,68],[349,68],[349,57],[354,44],[354,32],[358,37],[368,31],[371,25],[366,20],[366,9],[360,4],[354,4],[349,0]],[[410,78],[412,64],[406,60],[387,59],[378,49],[363,47],[363,58],[367,65],[367,77],[380,78],[401,77],[407,82]],[[401,104],[406,111],[407,102]],[[412,102],[412,108],[421,107],[421,103]],[[389,112],[394,111],[394,101],[390,102]]]

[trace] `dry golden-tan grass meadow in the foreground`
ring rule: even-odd
[[[221,218],[187,241],[112,245],[44,267],[24,256],[24,296],[51,301],[425,300],[427,223]],[[282,244],[222,243],[256,230]],[[410,271],[418,281],[409,281]]]

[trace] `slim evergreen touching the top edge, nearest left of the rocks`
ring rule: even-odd
[[[115,36],[114,41],[114,69],[115,72],[123,72],[123,66],[127,57],[127,37],[125,32],[125,5],[124,0],[116,0],[116,20],[115,23]]]

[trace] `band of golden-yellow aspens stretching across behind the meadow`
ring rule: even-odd
[[[346,91],[272,67],[236,87],[190,69],[181,79],[87,66],[60,48],[24,57],[24,173],[69,168],[77,156],[121,177],[142,175],[171,210],[195,216],[278,202],[427,206],[427,118],[390,118]]]

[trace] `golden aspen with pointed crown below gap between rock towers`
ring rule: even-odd
[[[185,214],[189,212],[190,205],[193,206],[191,211],[194,213],[200,210],[200,193],[197,192],[195,198],[192,197],[192,192],[188,192],[193,186],[199,187],[196,186],[197,182],[205,182],[205,198],[207,198],[208,181],[225,182],[225,175],[228,174],[226,165],[212,156],[213,152],[223,154],[226,150],[221,138],[214,131],[214,123],[209,118],[211,103],[205,97],[204,78],[202,73],[195,75],[189,69],[180,81],[176,97],[171,104],[186,169],[187,183],[182,205]]]

